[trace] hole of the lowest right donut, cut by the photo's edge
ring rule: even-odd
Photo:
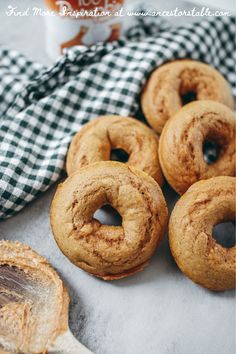
[[[224,248],[235,246],[235,223],[223,222],[217,224],[213,228],[212,237]]]

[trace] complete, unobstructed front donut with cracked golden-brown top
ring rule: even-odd
[[[111,205],[122,226],[93,218]],[[105,280],[143,269],[163,238],[167,207],[159,185],[145,172],[113,161],[90,164],[60,184],[52,201],[51,227],[72,263]]]

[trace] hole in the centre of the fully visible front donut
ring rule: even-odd
[[[111,205],[103,205],[100,209],[96,210],[93,215],[94,219],[100,221],[103,225],[109,226],[121,226],[122,217],[118,211],[113,208]]]

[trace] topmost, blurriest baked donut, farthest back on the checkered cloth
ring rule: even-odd
[[[161,133],[167,120],[190,100],[218,101],[233,109],[224,77],[207,64],[187,59],[156,69],[143,90],[141,104],[149,124]]]

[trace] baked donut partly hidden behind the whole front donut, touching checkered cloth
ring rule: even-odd
[[[90,163],[110,160],[112,149],[125,150],[129,166],[163,183],[157,135],[137,119],[115,115],[94,119],[74,136],[67,155],[68,175]]]

